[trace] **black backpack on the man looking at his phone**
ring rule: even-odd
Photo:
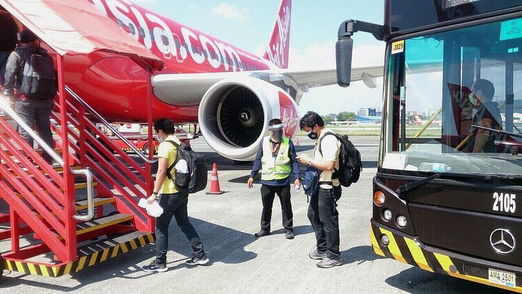
[[[324,137],[332,134],[340,141],[339,148],[339,170],[333,171],[332,178],[338,178],[339,183],[345,187],[349,187],[351,183],[356,183],[361,176],[363,170],[363,164],[361,162],[361,153],[355,148],[354,144],[348,139],[348,136],[343,134],[334,134],[333,132],[327,132],[319,140],[319,153],[323,155],[321,150],[321,141]]]

